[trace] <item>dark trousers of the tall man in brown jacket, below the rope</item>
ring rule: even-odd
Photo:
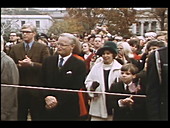
[[[42,120],[44,99],[41,90],[23,89],[18,90],[18,120],[27,121],[28,110],[31,120]]]

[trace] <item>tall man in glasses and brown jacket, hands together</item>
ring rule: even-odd
[[[48,47],[35,42],[36,28],[32,24],[24,24],[21,32],[24,42],[14,45],[10,51],[10,56],[19,69],[19,84],[40,86],[42,62],[47,56],[50,56]],[[40,97],[40,90],[19,88],[18,120],[27,120],[28,110],[30,110],[32,120],[41,119]]]

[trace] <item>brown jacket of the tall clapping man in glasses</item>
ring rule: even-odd
[[[24,43],[19,43],[11,48],[10,56],[18,64],[19,60],[25,59],[25,47]],[[20,84],[40,86],[41,82],[41,66],[43,60],[50,56],[48,47],[44,44],[34,42],[28,55],[31,58],[34,66],[19,67]]]

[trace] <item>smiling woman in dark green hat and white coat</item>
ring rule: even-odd
[[[85,85],[88,91],[109,92],[110,86],[120,76],[122,65],[115,60],[117,46],[112,41],[105,42],[97,52],[102,61],[96,63],[89,72]],[[108,95],[89,93],[91,103],[89,114],[91,121],[111,121],[112,107]]]

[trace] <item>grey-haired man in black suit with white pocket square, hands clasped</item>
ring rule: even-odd
[[[59,36],[57,55],[50,56],[43,62],[43,86],[72,90],[84,88],[85,63],[72,54],[77,41],[77,38],[69,33]],[[78,93],[44,91],[44,95],[45,120],[79,120]]]

